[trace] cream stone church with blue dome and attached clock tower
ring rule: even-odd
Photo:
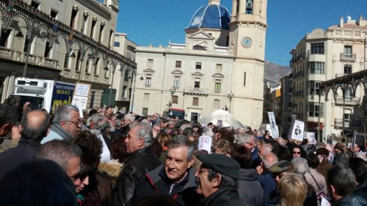
[[[252,128],[262,123],[266,0],[234,0],[232,15],[209,0],[186,27],[185,44],[139,46],[133,111],[185,110],[196,121],[228,109]]]

